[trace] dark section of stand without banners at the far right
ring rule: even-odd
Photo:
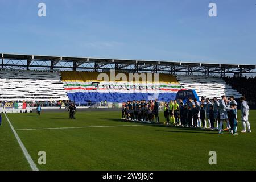
[[[237,92],[243,94],[248,102],[254,102],[255,104],[256,94],[254,90],[256,90],[256,77],[225,77],[224,80],[233,89],[236,89]]]

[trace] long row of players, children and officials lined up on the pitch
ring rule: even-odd
[[[251,132],[249,123],[250,108],[246,98],[241,97],[241,121],[243,130],[241,133]],[[233,96],[229,98],[222,96],[221,100],[214,97],[201,98],[201,101],[188,98],[185,100],[170,101],[164,103],[163,111],[166,125],[176,125],[182,127],[200,127],[201,129],[228,130],[234,135],[237,133],[237,102]],[[158,100],[127,101],[122,106],[122,120],[134,122],[160,122],[159,121],[159,102]],[[224,122],[226,129],[224,129]],[[216,127],[214,127],[216,123]],[[207,127],[208,125],[208,127]],[[246,130],[247,126],[247,130]]]

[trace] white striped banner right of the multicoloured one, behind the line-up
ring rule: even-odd
[[[176,78],[183,88],[196,90],[199,97],[212,99],[213,97],[221,98],[223,95],[234,96],[235,98],[242,96],[220,77],[176,75]]]

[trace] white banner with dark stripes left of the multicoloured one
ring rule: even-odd
[[[68,100],[60,72],[0,71],[0,101]]]

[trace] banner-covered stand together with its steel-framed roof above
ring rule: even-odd
[[[109,103],[122,103],[127,100],[150,100],[155,94],[158,94],[160,101],[170,101],[180,90],[189,89],[196,90],[199,97],[212,99],[225,94],[240,98],[241,93],[223,78],[230,75],[239,78],[243,74],[255,73],[255,65],[1,55],[2,101],[71,100],[84,104],[107,100]],[[114,78],[113,70],[117,72]],[[154,81],[152,76],[143,78],[148,73],[155,73]],[[105,77],[110,80],[103,79]],[[123,77],[129,80],[120,81]],[[209,87],[212,89],[206,89]]]

